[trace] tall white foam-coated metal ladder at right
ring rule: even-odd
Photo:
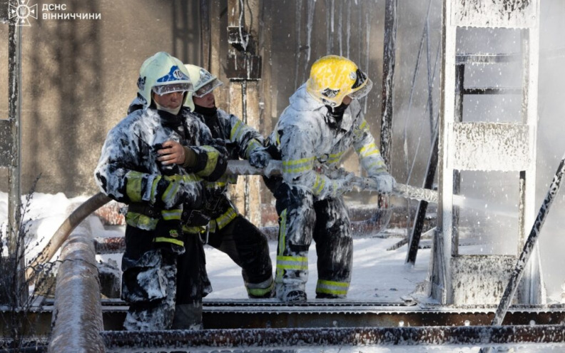
[[[495,304],[509,280],[517,253],[535,217],[537,81],[539,66],[539,0],[444,0],[442,19],[442,93],[439,122],[439,203],[432,250],[429,294],[442,304]],[[518,29],[521,56],[457,55],[458,29]],[[494,30],[493,30],[494,31]],[[459,32],[461,34],[462,32]],[[464,88],[467,64],[522,62],[521,88]],[[466,94],[521,94],[521,121],[463,121]],[[518,249],[516,255],[459,255],[460,173],[518,174]],[[457,196],[456,196],[457,197]],[[524,276],[518,302],[545,301],[539,259]]]

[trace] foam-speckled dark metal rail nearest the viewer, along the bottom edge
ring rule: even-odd
[[[375,345],[507,345],[515,343],[564,344],[562,325],[354,327],[327,329],[218,329],[158,332],[102,332],[108,352],[124,348],[178,349],[194,347],[328,347]],[[117,350],[116,350],[117,349]]]

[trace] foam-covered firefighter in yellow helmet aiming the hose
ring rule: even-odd
[[[307,299],[312,239],[317,251],[316,297],[347,295],[353,248],[342,194],[352,189],[354,175],[332,178],[323,171],[339,167],[352,147],[380,193],[390,193],[395,185],[358,101],[371,87],[370,79],[349,59],[324,56],[312,65],[310,78],[290,97],[269,136],[271,154],[283,161],[282,177],[266,181],[279,215],[275,287],[280,300]]]

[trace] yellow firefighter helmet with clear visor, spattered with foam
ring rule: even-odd
[[[322,56],[310,69],[306,91],[327,106],[339,106],[345,96],[359,99],[367,95],[372,81],[353,61],[343,56]]]

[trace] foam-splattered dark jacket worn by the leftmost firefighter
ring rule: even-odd
[[[188,181],[182,187],[188,201],[201,198],[203,185],[200,176],[205,175],[196,173],[203,170],[213,173],[218,156],[211,155],[218,154],[218,151],[208,146],[212,143],[210,130],[185,108],[178,116],[154,108],[136,110],[108,132],[94,172],[102,192],[128,205],[151,203],[148,192],[151,188],[147,185],[151,185],[158,175],[163,175],[163,167],[157,161],[156,145],[166,140],[175,140],[195,150],[199,157],[198,166],[193,170],[173,166],[173,173],[187,176],[185,180]],[[225,170],[225,165],[223,167]],[[158,216],[148,217],[131,210],[126,215],[128,225],[146,230],[153,229],[157,220]]]

